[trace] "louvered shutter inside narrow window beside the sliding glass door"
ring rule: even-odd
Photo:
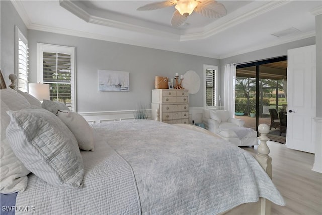
[[[206,70],[206,106],[216,106],[217,71]]]

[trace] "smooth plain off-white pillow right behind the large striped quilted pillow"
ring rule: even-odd
[[[79,148],[94,151],[93,129],[83,116],[72,111],[58,111],[57,116],[75,135]]]

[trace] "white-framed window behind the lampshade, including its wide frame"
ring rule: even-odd
[[[37,59],[38,81],[49,84],[50,100],[76,111],[75,48],[38,43]]]

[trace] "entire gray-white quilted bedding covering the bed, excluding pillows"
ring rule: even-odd
[[[16,206],[36,214],[218,214],[259,197],[285,204],[258,162],[222,139],[152,120],[93,128],[104,141],[82,152],[83,188],[32,175]]]

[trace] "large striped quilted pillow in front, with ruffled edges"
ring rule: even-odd
[[[57,116],[45,109],[7,113],[7,139],[27,169],[54,186],[82,186],[84,166],[77,140]]]

